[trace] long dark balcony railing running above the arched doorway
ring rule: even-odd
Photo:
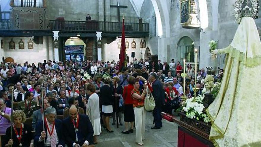
[[[122,23],[118,23],[118,22],[50,20],[49,25],[51,30],[112,31],[112,32],[122,31]],[[149,32],[149,24],[148,23],[125,23],[125,31]]]

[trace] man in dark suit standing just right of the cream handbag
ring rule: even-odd
[[[155,121],[155,126],[151,129],[160,129],[162,127],[161,118],[161,106],[164,103],[164,92],[162,89],[162,84],[157,80],[157,75],[152,73],[149,75],[149,80],[152,82],[152,95],[155,100],[155,108],[153,110],[153,118]]]

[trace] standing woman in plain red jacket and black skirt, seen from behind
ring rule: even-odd
[[[135,78],[130,76],[128,78],[128,86],[125,86],[123,89],[123,100],[124,100],[124,124],[125,130],[122,131],[123,134],[130,134],[133,133],[133,125],[134,125],[134,110],[133,110],[133,99],[130,95],[130,92],[133,90],[133,82]],[[130,129],[129,129],[129,122],[130,122]]]

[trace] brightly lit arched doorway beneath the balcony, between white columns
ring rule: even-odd
[[[64,43],[64,52],[66,61],[84,61],[85,55],[85,42],[78,37],[70,37]]]

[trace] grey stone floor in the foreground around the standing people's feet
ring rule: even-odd
[[[112,122],[112,118],[110,119]],[[178,139],[178,125],[162,119],[163,127],[152,130],[152,112],[147,112],[144,147],[176,147]],[[124,126],[112,126],[113,133],[108,133],[102,128],[101,135],[98,136],[97,147],[130,147],[139,146],[135,143],[135,131],[129,135],[122,134]]]

